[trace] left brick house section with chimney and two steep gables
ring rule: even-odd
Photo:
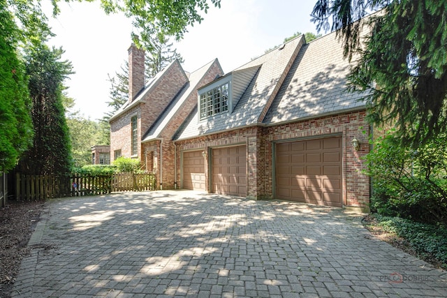
[[[160,188],[174,188],[173,135],[196,105],[198,87],[223,70],[215,59],[188,73],[175,60],[145,82],[144,59],[144,51],[129,47],[129,100],[109,120],[110,158],[138,158]]]

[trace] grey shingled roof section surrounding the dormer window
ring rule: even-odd
[[[253,75],[247,88],[242,92],[240,100],[233,106],[233,112],[217,114],[214,117],[198,121],[198,109],[196,108],[179,128],[175,139],[186,139],[258,124],[260,119],[263,119],[263,115],[267,113],[268,107],[279,91],[279,86],[284,81],[303,43],[305,43],[304,36],[298,36],[283,46],[233,70],[229,75],[237,76],[244,71],[251,72]]]

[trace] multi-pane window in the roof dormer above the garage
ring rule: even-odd
[[[228,82],[200,94],[200,119],[228,111]]]

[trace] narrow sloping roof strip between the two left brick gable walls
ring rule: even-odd
[[[210,61],[210,63],[199,68],[198,70],[189,73],[189,82],[186,83],[186,85],[182,88],[182,90],[179,91],[177,96],[173,98],[168,107],[166,107],[163,113],[161,113],[159,118],[156,119],[154,124],[152,124],[147,133],[145,133],[145,135],[142,137],[142,142],[148,142],[150,140],[154,140],[158,137],[161,137],[163,129],[165,129],[166,126],[168,126],[171,120],[175,119],[179,110],[182,109],[182,105],[184,105],[186,99],[189,96],[191,96],[192,93],[194,94],[195,97],[197,96],[195,90],[198,88],[199,82],[207,74],[207,71],[210,70],[210,67],[213,64],[219,65],[219,61],[217,59],[214,59],[213,61]],[[219,68],[221,68],[220,65]]]

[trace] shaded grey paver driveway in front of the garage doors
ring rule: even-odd
[[[14,297],[447,297],[342,209],[193,191],[47,203]]]

